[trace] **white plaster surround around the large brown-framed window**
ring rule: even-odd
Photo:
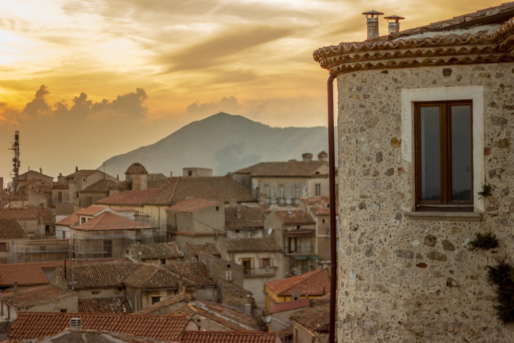
[[[414,103],[418,101],[473,101],[473,212],[484,212],[484,200],[478,195],[485,180],[484,171],[484,86],[455,86],[437,88],[416,88],[401,90],[401,155],[403,160],[412,166],[414,160]],[[414,180],[414,170],[411,168],[411,180]],[[415,209],[414,183],[411,191],[411,211]],[[477,218],[476,215],[464,213],[412,212],[413,217],[430,216],[431,219],[458,220]],[[466,217],[471,218],[466,218]],[[415,219],[415,218],[413,218]]]

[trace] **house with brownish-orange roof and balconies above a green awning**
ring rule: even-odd
[[[316,222],[301,209],[272,211],[264,220],[266,236],[282,248],[283,275],[298,275],[316,269]]]

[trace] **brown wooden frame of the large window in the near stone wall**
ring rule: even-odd
[[[470,108],[470,161],[471,200],[453,201],[451,198],[451,116],[450,106],[468,105]],[[421,201],[421,138],[420,107],[439,107],[439,201]],[[414,156],[415,156],[415,203],[416,211],[473,211],[473,102],[472,100],[423,101],[414,103]]]

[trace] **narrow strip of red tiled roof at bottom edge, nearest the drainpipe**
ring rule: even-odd
[[[182,343],[275,343],[276,332],[184,331]]]

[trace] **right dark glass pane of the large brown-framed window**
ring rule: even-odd
[[[471,199],[471,106],[450,107],[452,201]]]

